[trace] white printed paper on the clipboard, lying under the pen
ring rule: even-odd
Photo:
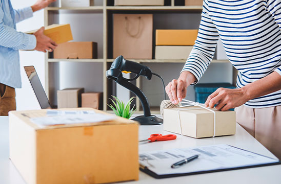
[[[176,162],[196,154],[199,157],[190,163],[178,168],[171,168]],[[139,164],[157,175],[211,171],[277,162],[277,159],[226,144],[139,153]]]

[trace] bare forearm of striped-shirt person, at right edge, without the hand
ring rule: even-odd
[[[281,89],[281,76],[277,72],[241,88],[247,101]]]

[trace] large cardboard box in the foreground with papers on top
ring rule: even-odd
[[[116,117],[42,128],[30,121],[46,116],[46,111],[9,112],[10,159],[28,184],[138,179],[138,123]]]

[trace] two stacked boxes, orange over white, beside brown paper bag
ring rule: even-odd
[[[156,30],[155,59],[187,59],[198,30]]]

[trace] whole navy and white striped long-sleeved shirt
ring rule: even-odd
[[[238,88],[274,71],[281,75],[280,0],[204,0],[198,36],[183,71],[198,81],[213,58],[218,37],[238,70]],[[281,105],[281,90],[245,105]]]

